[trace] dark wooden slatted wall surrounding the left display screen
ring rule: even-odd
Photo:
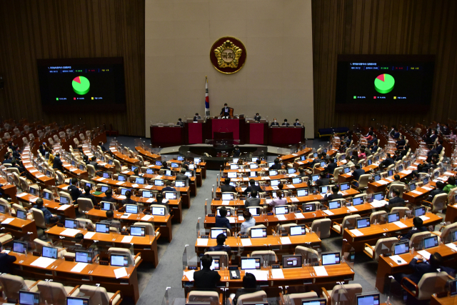
[[[0,1],[0,29],[4,119],[111,123],[120,134],[144,136],[144,0]],[[124,57],[126,111],[41,111],[36,59],[116,56]]]

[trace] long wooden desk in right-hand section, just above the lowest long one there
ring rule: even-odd
[[[433,224],[438,224],[443,219],[436,214],[427,213],[429,219],[423,221],[424,226],[429,226]],[[346,239],[349,244],[351,244],[357,252],[363,251],[364,244],[374,245],[376,241],[380,239],[383,234],[392,234],[396,231],[407,231],[413,227],[413,219],[401,219],[401,223],[405,224],[405,228],[400,228],[396,224],[376,224],[368,226],[367,228],[358,229],[363,234],[362,236],[356,236],[348,229],[344,229],[343,239]]]

